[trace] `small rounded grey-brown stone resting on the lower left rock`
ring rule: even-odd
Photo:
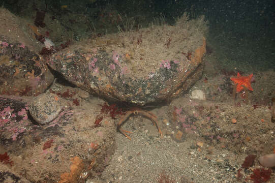
[[[41,94],[33,99],[29,113],[40,125],[45,125],[55,119],[62,109],[57,95]]]

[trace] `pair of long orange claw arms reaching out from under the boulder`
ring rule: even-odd
[[[129,117],[131,114],[133,114],[133,113],[134,113],[135,115],[141,114],[141,115],[143,115],[143,116],[148,117],[149,119],[151,119],[151,121],[153,121],[154,124],[156,125],[156,127],[158,128],[159,134],[160,134],[160,136],[161,136],[161,138],[162,138],[162,132],[161,132],[161,129],[160,129],[159,125],[158,125],[157,116],[156,116],[155,114],[151,113],[150,111],[141,110],[141,109],[137,109],[137,108],[135,108],[135,109],[133,109],[133,110],[130,110],[130,111],[127,111],[126,114],[120,118],[120,120],[119,120],[119,122],[118,122],[118,124],[117,124],[117,130],[118,130],[120,133],[122,133],[124,136],[126,136],[127,138],[129,138],[129,139],[131,140],[131,138],[130,138],[127,134],[125,134],[125,133],[132,133],[132,132],[129,132],[129,131],[126,131],[126,130],[121,129],[121,125],[122,125],[123,122],[124,122],[125,120],[127,120],[128,117]]]

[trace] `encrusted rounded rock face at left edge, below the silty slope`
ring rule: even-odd
[[[0,35],[0,94],[37,96],[52,83],[43,58],[27,46]]]

